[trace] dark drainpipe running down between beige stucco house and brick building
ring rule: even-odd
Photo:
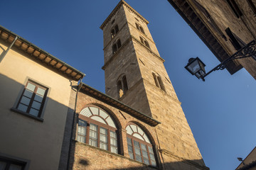
[[[71,136],[70,136],[70,145],[69,145],[69,149],[68,149],[68,163],[67,163],[67,170],[69,169],[70,166],[70,154],[71,154],[71,147],[72,147],[72,138],[73,138],[73,128],[74,128],[74,124],[75,124],[75,113],[76,113],[76,106],[77,106],[77,102],[78,102],[78,92],[80,91],[80,89],[82,88],[82,79],[85,77],[85,74],[83,74],[83,77],[80,79],[80,81],[78,81],[78,90],[75,96],[75,109],[74,109],[74,115],[73,115],[73,123],[72,123],[72,127],[71,127]],[[81,84],[81,86],[79,86]]]

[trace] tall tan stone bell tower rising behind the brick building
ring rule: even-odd
[[[119,1],[102,23],[106,94],[159,120],[159,155],[165,169],[208,169],[193,138],[146,21]]]

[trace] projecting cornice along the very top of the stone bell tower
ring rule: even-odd
[[[129,11],[132,11],[133,13],[135,13],[139,18],[142,19],[144,23],[146,23],[146,25],[149,23],[149,21],[147,21],[143,16],[141,16],[134,8],[132,8],[132,6],[129,6],[129,4],[127,4],[126,1],[121,0],[117,4],[117,6],[113,9],[113,11],[110,13],[110,15],[107,17],[107,19],[105,19],[105,21],[102,23],[102,25],[100,26],[100,29],[103,30],[105,26],[107,26],[107,23],[111,21],[111,18],[114,16],[115,13],[117,13],[117,11],[119,10],[119,8],[121,8],[122,5],[126,6],[129,9]]]

